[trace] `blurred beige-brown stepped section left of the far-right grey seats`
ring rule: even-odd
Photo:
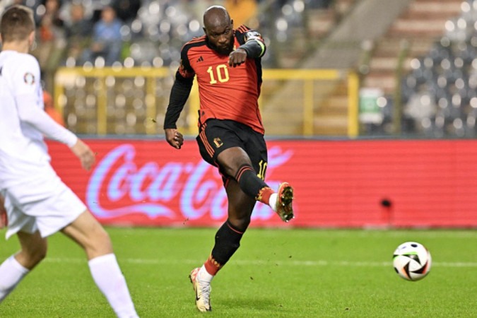
[[[461,13],[461,4],[461,0],[411,1],[387,32],[369,47],[369,62],[367,65],[360,65],[363,71],[362,87],[382,90],[387,97],[387,105],[382,110],[383,122],[377,126],[368,126],[367,133],[416,134],[419,129],[413,129],[414,120],[421,120],[427,125],[426,118],[429,108],[432,108],[431,99],[419,99],[415,95],[412,101],[419,105],[406,107],[411,90],[404,85],[404,95],[400,95],[401,74],[412,71],[419,64],[416,72],[424,71],[425,76],[429,76],[430,69],[425,71],[427,66],[421,66],[419,59],[424,61],[425,55],[432,52],[433,44],[439,42],[444,35],[446,24]],[[426,64],[429,66],[429,60]],[[411,79],[408,83],[413,85]],[[398,124],[399,122],[402,124]]]

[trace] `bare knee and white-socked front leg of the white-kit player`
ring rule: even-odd
[[[117,317],[138,317],[109,235],[89,211],[82,213],[61,232],[86,252],[91,276],[106,296]]]

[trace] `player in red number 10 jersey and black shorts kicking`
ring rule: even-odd
[[[267,149],[258,98],[261,35],[245,25],[233,28],[222,6],[204,13],[205,35],[187,42],[165,114],[165,139],[180,149],[184,138],[176,122],[192,88],[199,83],[200,110],[197,143],[202,158],[218,167],[228,197],[228,218],[216,233],[211,255],[190,278],[201,312],[211,310],[211,281],[240,246],[257,201],[271,206],[285,221],[293,218],[293,188],[283,182],[273,191],[264,182]]]

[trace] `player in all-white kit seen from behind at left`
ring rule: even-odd
[[[0,35],[0,195],[6,239],[16,234],[21,247],[0,265],[0,303],[45,258],[47,237],[61,231],[85,250],[93,280],[117,317],[138,317],[109,235],[49,164],[43,136],[69,146],[86,170],[95,157],[43,110],[40,66],[28,54],[35,39],[30,8],[8,8]]]

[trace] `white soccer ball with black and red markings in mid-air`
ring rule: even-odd
[[[405,242],[394,251],[394,270],[407,281],[424,278],[430,271],[431,263],[430,252],[418,242]]]

